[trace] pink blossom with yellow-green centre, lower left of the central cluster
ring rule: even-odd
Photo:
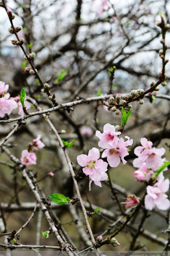
[[[83,172],[89,175],[90,183],[89,189],[92,180],[95,182],[96,185],[101,186],[100,180],[104,180],[107,178],[107,163],[103,160],[99,159],[100,152],[97,148],[92,148],[88,152],[88,156],[86,154],[81,154],[77,157],[78,163],[84,167]]]

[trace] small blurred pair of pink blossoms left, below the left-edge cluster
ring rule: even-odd
[[[36,139],[33,139],[32,143],[29,143],[29,151],[37,151],[37,148],[43,148],[45,147],[44,143],[41,142],[40,140],[40,135],[37,136]],[[37,158],[34,152],[29,152],[27,149],[22,150],[21,154],[21,163],[23,165],[31,165],[31,164],[36,164]]]

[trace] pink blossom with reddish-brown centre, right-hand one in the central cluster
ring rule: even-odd
[[[132,145],[133,140],[130,140],[128,136],[125,136],[125,138],[128,138],[126,142],[124,142],[123,138],[120,138],[115,147],[106,149],[102,153],[102,158],[107,157],[107,162],[111,167],[117,167],[120,163],[120,158],[123,164],[127,162],[124,160],[124,157],[129,155],[126,146]]]

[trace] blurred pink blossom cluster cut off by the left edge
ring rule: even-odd
[[[3,118],[5,113],[11,114],[13,109],[19,108],[18,114],[20,116],[24,115],[22,104],[20,103],[19,96],[15,98],[10,98],[10,94],[7,93],[9,85],[0,81],[0,117]],[[31,104],[25,99],[24,104],[27,109],[31,108]]]

